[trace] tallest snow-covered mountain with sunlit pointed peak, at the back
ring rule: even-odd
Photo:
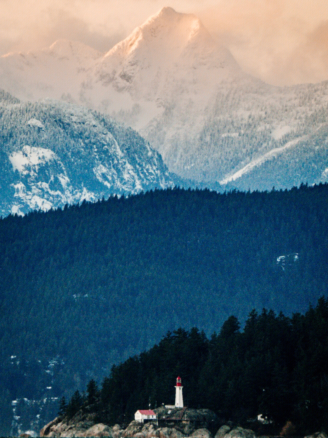
[[[105,54],[61,40],[1,57],[0,86],[108,113],[184,178],[260,189],[327,180],[328,83],[264,84],[197,17],[170,7]]]

